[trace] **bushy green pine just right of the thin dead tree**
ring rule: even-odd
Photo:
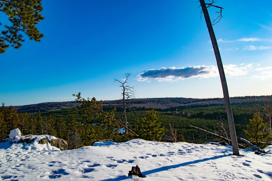
[[[157,111],[146,111],[145,117],[135,125],[135,132],[140,138],[150,141],[159,141],[165,135],[166,129],[158,121]]]

